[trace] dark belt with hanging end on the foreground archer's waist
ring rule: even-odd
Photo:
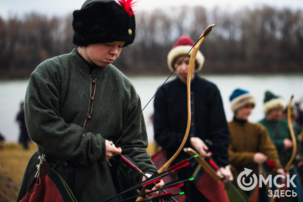
[[[42,156],[42,152],[40,151],[39,147],[36,151],[38,156]],[[65,167],[66,171],[66,183],[68,184],[69,188],[73,191],[74,190],[74,172],[73,172],[73,165],[77,164],[77,162],[64,160],[59,157],[55,156],[46,156],[45,160],[48,163],[60,164]]]

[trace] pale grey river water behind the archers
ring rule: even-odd
[[[291,95],[295,101],[303,101],[303,74],[292,75],[201,75],[203,78],[215,83],[222,96],[227,121],[232,119],[229,96],[235,88],[250,91],[256,99],[256,107],[249,121],[256,122],[264,117],[263,99],[266,90],[272,91],[289,101]],[[161,86],[167,77],[165,76],[136,76],[129,77],[140,95],[142,108],[154,95],[156,89]],[[174,79],[172,75],[171,79]],[[18,141],[19,128],[15,121],[20,102],[24,100],[28,80],[0,81],[0,132],[6,141]],[[153,141],[153,129],[150,116],[153,114],[153,100],[143,111],[148,140]]]

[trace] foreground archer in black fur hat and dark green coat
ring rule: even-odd
[[[117,154],[132,157],[149,176],[157,171],[146,151],[140,98],[111,64],[135,39],[135,16],[127,3],[131,1],[85,1],[73,12],[73,42],[78,49],[48,59],[33,71],[25,96],[25,122],[38,151],[26,167],[17,201],[35,177],[38,154],[45,154],[46,161],[55,159],[48,164],[78,201],[103,201],[120,192],[112,166]],[[113,144],[125,131],[118,145]],[[124,164],[120,167],[129,184],[145,179]],[[161,180],[155,187],[163,185]]]

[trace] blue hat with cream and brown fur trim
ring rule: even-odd
[[[247,104],[252,104],[253,107],[256,105],[255,98],[248,91],[239,88],[232,92],[229,101],[231,101],[231,110],[234,113]]]

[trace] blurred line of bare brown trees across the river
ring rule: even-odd
[[[217,25],[200,48],[204,73],[303,72],[302,10],[178,7],[139,12],[136,23],[135,43],[114,63],[127,74],[167,73],[166,57],[178,37],[197,40],[210,24]],[[28,78],[45,59],[76,48],[72,35],[72,15],[0,17],[0,78]]]

